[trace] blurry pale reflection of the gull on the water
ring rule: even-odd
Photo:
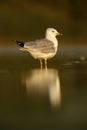
[[[61,90],[58,71],[55,69],[35,69],[23,74],[27,94],[39,92],[41,95],[48,94],[53,107],[59,107],[61,103]]]

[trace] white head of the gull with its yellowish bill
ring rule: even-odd
[[[46,30],[46,38],[49,39],[49,37],[56,37],[57,35],[61,35],[56,29],[54,28],[47,28]]]

